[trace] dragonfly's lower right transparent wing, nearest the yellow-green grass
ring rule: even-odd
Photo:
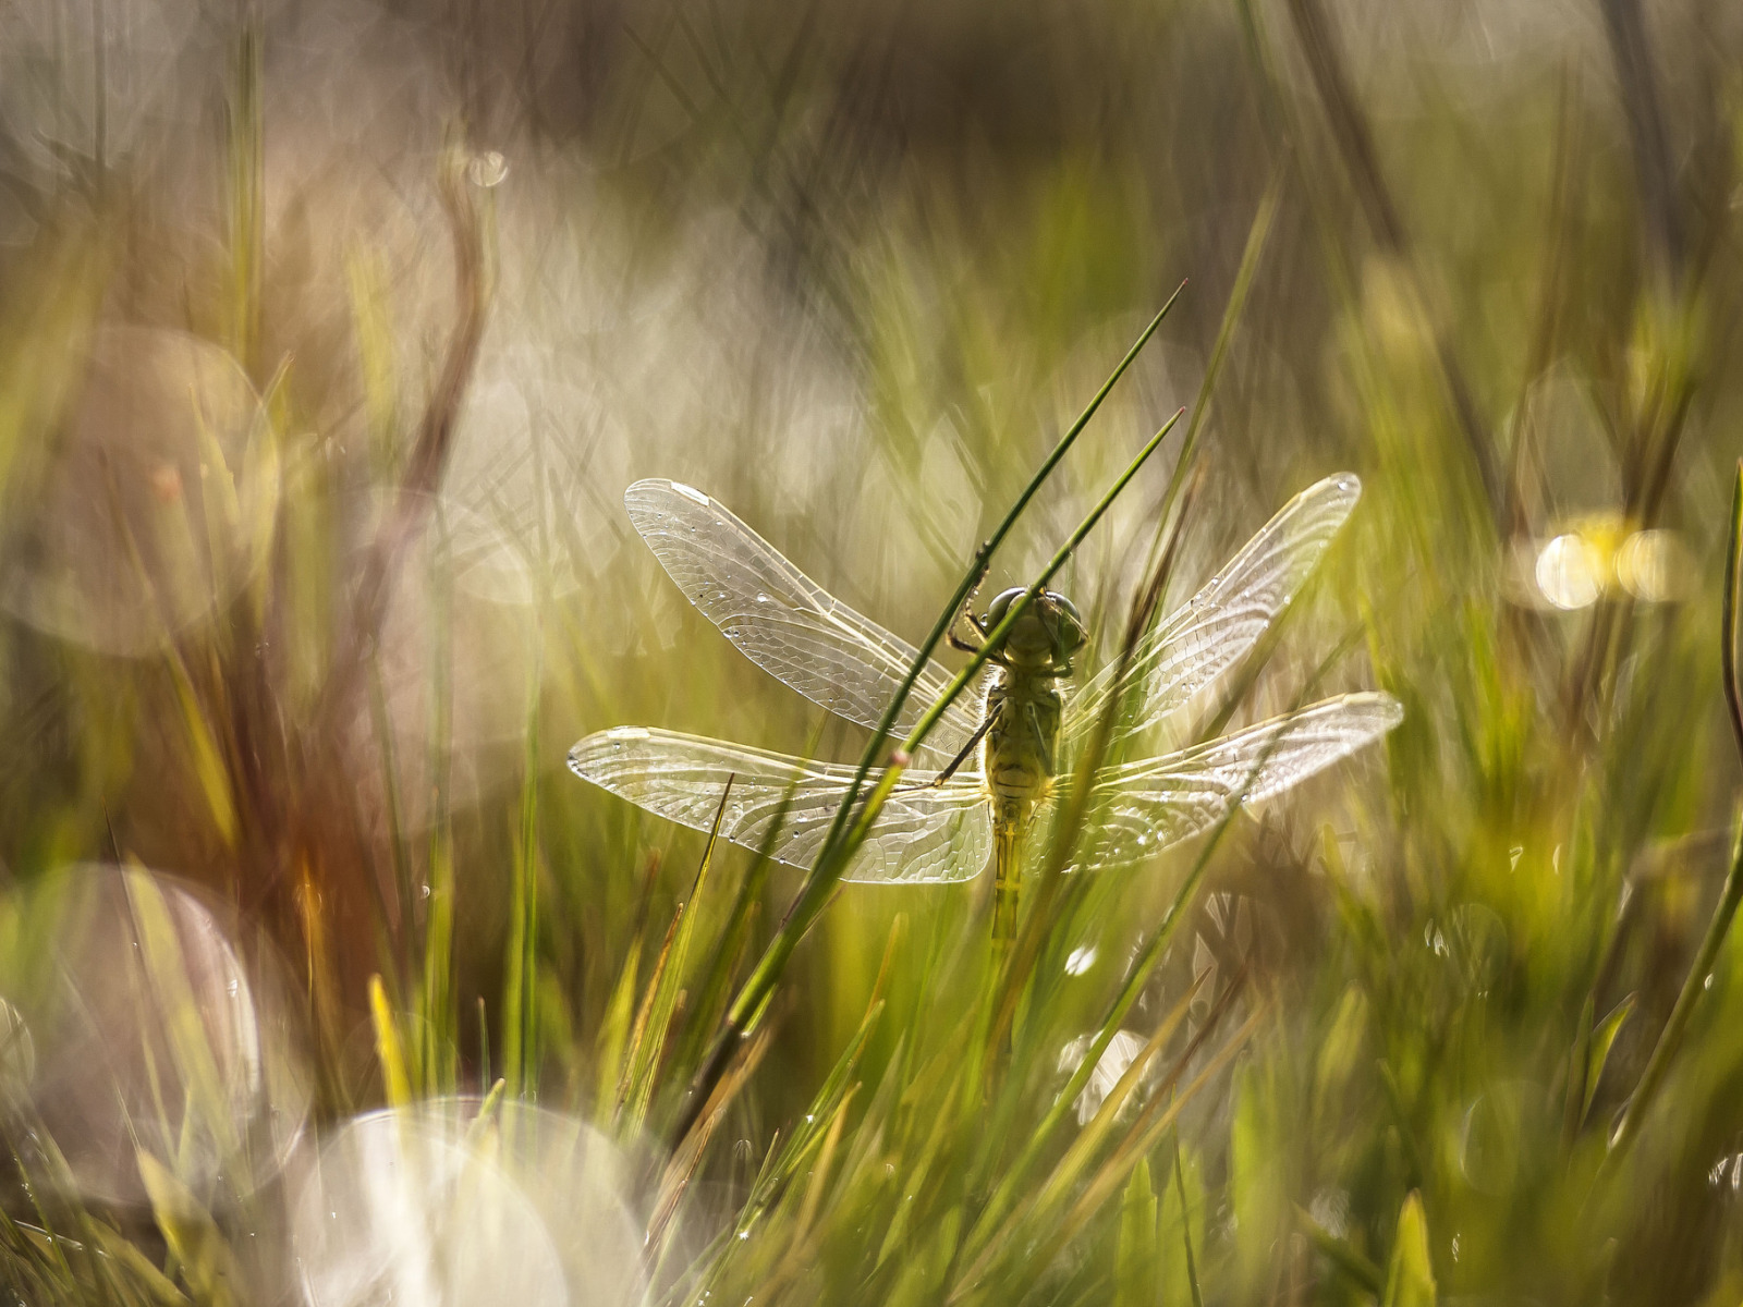
[[[1114,866],[1147,857],[1210,830],[1238,800],[1281,795],[1400,721],[1403,708],[1391,695],[1347,694],[1210,744],[1110,767],[1096,784],[1100,828],[1081,863]]]

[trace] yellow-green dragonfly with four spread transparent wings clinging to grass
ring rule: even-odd
[[[1290,605],[1361,495],[1354,474],[1292,498],[1204,586],[1133,647],[1070,692],[1086,645],[1068,598],[1041,591],[997,648],[976,694],[959,694],[894,786],[844,880],[950,884],[994,863],[995,943],[1016,929],[1021,854],[1060,775],[1095,723],[1116,713],[1114,742],[1142,742],[1236,669]],[[624,493],[636,532],[739,652],[814,704],[875,728],[919,650],[810,580],[718,500],[682,481],[636,481]],[[983,615],[962,613],[978,650],[1023,589]],[[952,673],[920,666],[896,714],[905,739],[943,697]],[[1326,699],[1190,748],[1098,770],[1095,823],[1075,866],[1140,863],[1210,830],[1238,803],[1260,803],[1379,741],[1403,720],[1386,694]],[[570,770],[669,821],[810,866],[856,767],[812,762],[652,727],[600,730],[570,749]],[[866,784],[877,784],[873,769]]]

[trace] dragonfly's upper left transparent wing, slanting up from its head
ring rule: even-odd
[[[725,507],[680,481],[636,481],[624,491],[634,523],[683,596],[744,657],[810,702],[863,727],[877,727],[919,655],[908,641],[861,617]],[[927,660],[896,737],[906,735],[950,683]],[[960,697],[927,735],[922,753],[952,758],[974,734]]]

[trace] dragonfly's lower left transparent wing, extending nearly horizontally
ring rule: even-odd
[[[779,819],[781,833],[770,852],[795,866],[816,859],[854,775],[852,767],[641,727],[587,735],[568,751],[568,767],[636,807],[699,831],[713,828],[732,777],[720,833],[762,849]],[[905,775],[847,868],[847,880],[936,884],[980,875],[992,849],[980,781],[962,777],[934,788],[927,784],[933,775],[919,770]]]

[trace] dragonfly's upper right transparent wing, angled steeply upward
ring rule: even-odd
[[[1360,497],[1354,472],[1307,486],[1197,594],[1152,627],[1131,660],[1129,683],[1143,690],[1129,730],[1166,720],[1246,655],[1312,573]],[[1114,664],[1103,667],[1072,701],[1067,739],[1107,709],[1114,673]]]

